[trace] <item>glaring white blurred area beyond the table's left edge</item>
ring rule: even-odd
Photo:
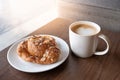
[[[55,8],[55,0],[0,0],[0,34]]]

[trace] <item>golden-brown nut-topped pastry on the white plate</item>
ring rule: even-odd
[[[51,64],[59,59],[60,49],[53,37],[34,35],[18,44],[17,53],[28,62]]]

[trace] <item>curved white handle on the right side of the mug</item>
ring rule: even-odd
[[[110,48],[110,40],[104,34],[100,34],[98,37],[105,41],[105,43],[107,44],[107,48],[104,51],[95,52],[95,55],[104,55],[108,52]]]

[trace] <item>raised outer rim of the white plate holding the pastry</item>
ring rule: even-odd
[[[45,72],[45,71],[49,71],[49,70],[51,70],[51,69],[54,69],[54,68],[60,66],[60,65],[61,65],[63,62],[65,62],[65,60],[69,57],[69,52],[70,52],[69,45],[67,44],[67,42],[66,42],[64,39],[62,39],[62,38],[60,38],[60,37],[58,37],[58,36],[49,35],[49,34],[38,34],[38,35],[51,36],[51,37],[57,38],[57,39],[61,40],[62,42],[64,42],[64,45],[65,45],[65,47],[67,48],[67,55],[66,55],[66,57],[64,57],[64,58],[59,62],[59,64],[57,64],[57,62],[56,62],[56,65],[54,65],[54,67],[48,68],[48,69],[45,69],[45,70],[38,70],[38,71],[28,71],[28,70],[27,70],[27,71],[26,71],[26,70],[22,70],[22,69],[18,68],[18,67],[15,66],[15,65],[10,61],[10,59],[9,59],[9,57],[10,57],[10,56],[9,56],[9,55],[10,55],[10,51],[13,49],[13,47],[14,47],[15,45],[17,45],[18,43],[20,43],[20,41],[25,40],[25,39],[27,39],[28,37],[30,37],[30,36],[27,36],[27,37],[21,38],[20,40],[18,40],[18,41],[16,41],[15,43],[13,43],[13,44],[11,45],[11,47],[9,48],[8,52],[7,52],[7,61],[8,61],[8,63],[9,63],[14,69],[19,70],[19,71],[22,71],[22,72],[27,72],[27,73]],[[31,35],[31,36],[32,36],[32,35]],[[53,64],[54,64],[54,63],[53,63]]]

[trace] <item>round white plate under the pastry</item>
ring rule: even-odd
[[[49,35],[49,36],[55,38],[58,48],[61,50],[60,58],[56,63],[49,64],[49,65],[41,65],[41,64],[26,62],[26,61],[22,60],[17,55],[16,48],[17,48],[17,45],[25,39],[24,38],[16,43],[14,43],[8,50],[7,60],[10,63],[10,65],[19,71],[29,72],[29,73],[37,73],[37,72],[48,71],[48,70],[53,69],[53,68],[59,66],[60,64],[62,64],[69,55],[69,47],[63,39],[56,37],[56,36],[52,36],[52,35]]]

